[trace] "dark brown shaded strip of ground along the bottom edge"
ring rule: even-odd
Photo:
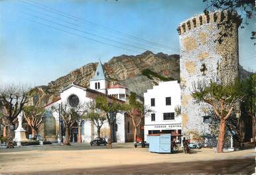
[[[31,174],[253,174],[254,170],[255,157],[247,157],[231,160],[70,169],[56,172],[32,172]]]

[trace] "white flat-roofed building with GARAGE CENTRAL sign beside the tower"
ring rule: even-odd
[[[174,108],[180,106],[178,81],[160,82],[153,89],[147,90],[144,93],[144,104],[152,110],[145,117],[145,141],[147,141],[147,135],[151,134],[171,133],[177,136],[182,133],[182,118],[176,116],[174,112]]]

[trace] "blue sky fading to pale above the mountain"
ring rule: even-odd
[[[205,7],[202,0],[0,0],[0,85],[47,85],[123,54],[178,54],[178,24]],[[239,29],[239,63],[256,71],[253,30],[255,18]]]

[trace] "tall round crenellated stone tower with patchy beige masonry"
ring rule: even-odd
[[[232,22],[231,36],[219,43],[216,39],[222,28],[218,24],[229,19],[237,22]],[[207,104],[193,102],[190,95],[193,83],[210,79],[228,83],[238,77],[238,26],[237,13],[230,11],[198,15],[178,26],[183,132],[209,132],[207,123],[212,111]]]

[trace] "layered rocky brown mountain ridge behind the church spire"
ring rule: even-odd
[[[96,67],[97,63],[89,63],[51,81],[47,86],[34,87],[31,90],[34,98],[30,103],[44,106],[59,98],[60,89],[72,82],[89,87]],[[159,81],[180,79],[179,55],[155,54],[150,51],[140,55],[121,55],[110,59],[104,67],[112,85],[125,85],[139,96],[143,96],[143,92],[157,85]]]

